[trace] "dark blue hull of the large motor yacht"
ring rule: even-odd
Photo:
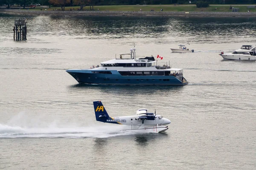
[[[118,74],[93,74],[67,71],[79,83],[106,85],[187,85],[174,76],[122,76]]]

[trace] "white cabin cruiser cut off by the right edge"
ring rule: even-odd
[[[224,54],[221,52],[221,57],[223,59],[232,59],[232,60],[256,60],[255,48],[252,45],[242,45],[242,47],[233,53]]]

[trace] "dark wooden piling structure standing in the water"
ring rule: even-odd
[[[26,20],[15,20],[14,25],[15,26],[13,27],[13,40],[26,40]]]

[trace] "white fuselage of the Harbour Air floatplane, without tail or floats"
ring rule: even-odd
[[[118,122],[121,125],[141,126],[143,122],[143,120],[137,119],[138,115],[119,116],[119,117],[111,117],[111,118],[113,120],[108,120],[108,121]],[[171,121],[169,119],[163,118],[160,115],[156,115],[154,120],[144,120],[144,126],[168,125],[170,123]]]

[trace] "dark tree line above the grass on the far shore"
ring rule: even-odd
[[[6,5],[7,8],[16,4],[26,6],[40,4],[47,6],[60,6],[62,10],[65,6],[108,6],[108,5],[164,5],[164,4],[196,4],[199,0],[0,0],[0,6]],[[200,0],[208,4],[254,4],[256,0]]]

